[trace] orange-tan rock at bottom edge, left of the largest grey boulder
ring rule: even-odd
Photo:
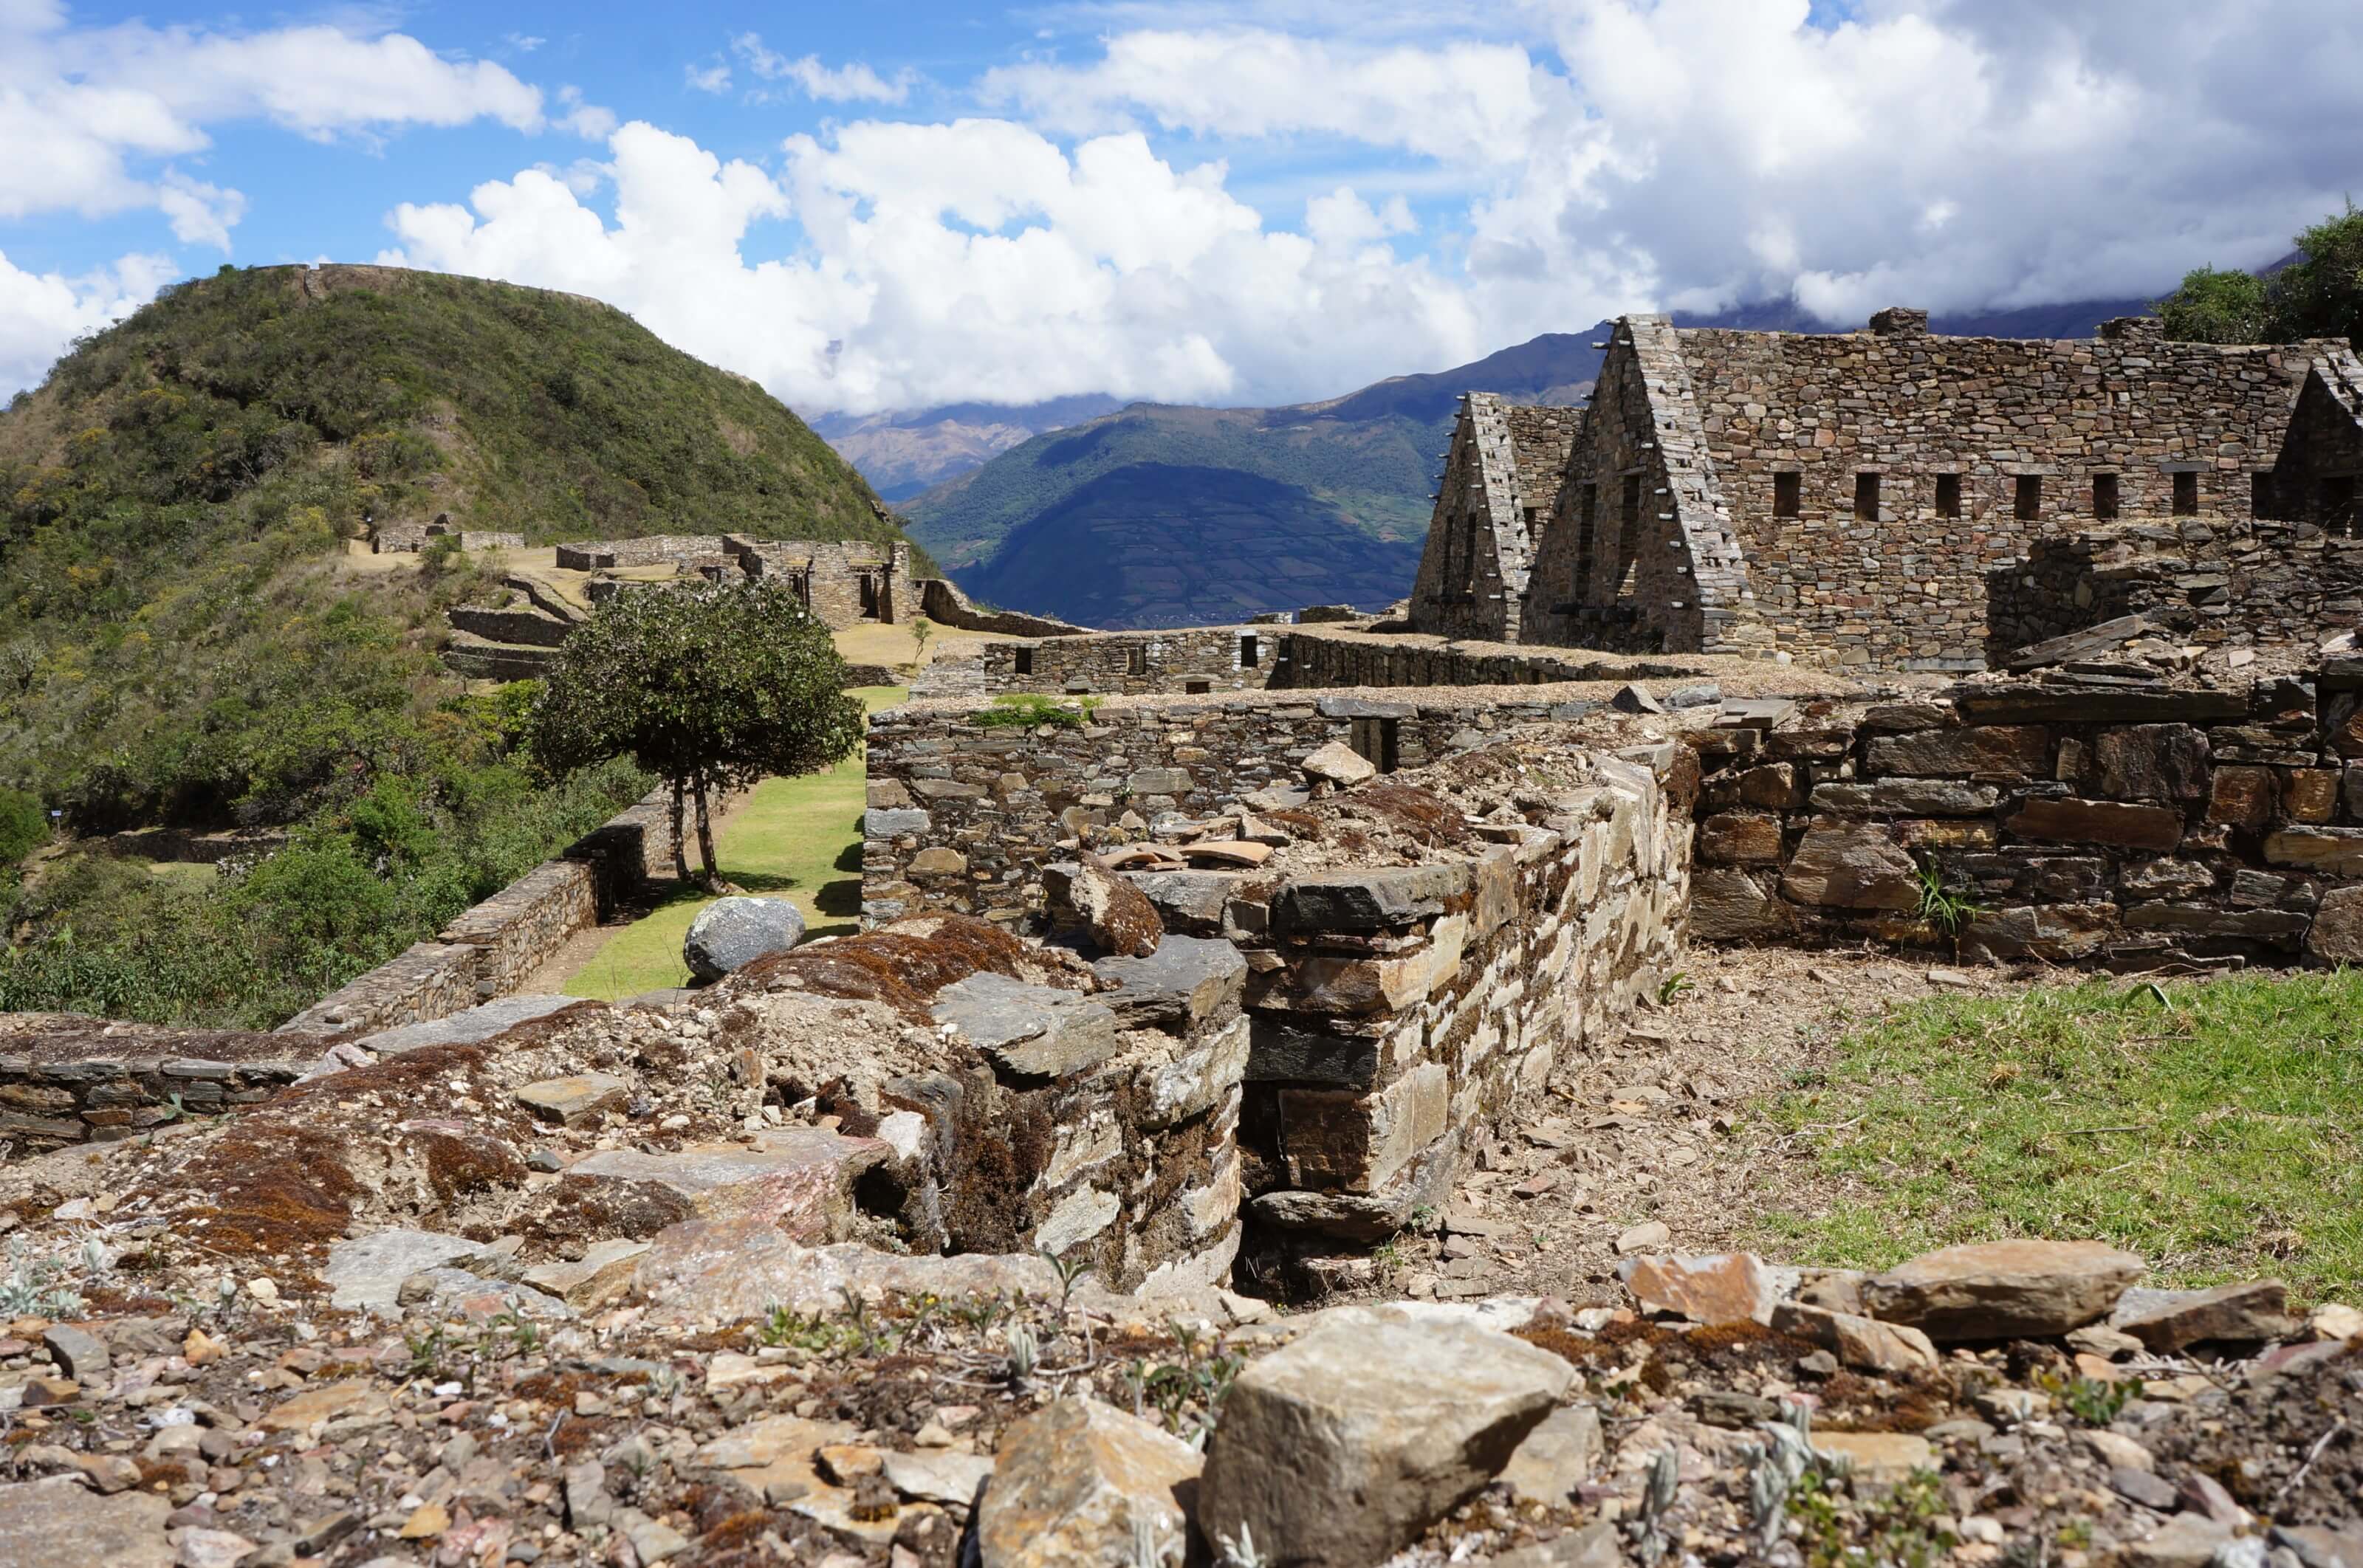
[[[976,1507],[983,1568],[1151,1568],[1189,1549],[1186,1488],[1203,1459],[1094,1398],[1063,1398],[1002,1433]],[[1262,1537],[1257,1537],[1262,1540]]]

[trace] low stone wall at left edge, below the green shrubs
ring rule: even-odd
[[[182,1115],[253,1105],[293,1084],[312,1056],[276,1034],[0,1013],[0,1152],[130,1138]]]

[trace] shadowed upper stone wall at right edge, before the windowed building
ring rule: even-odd
[[[1997,574],[1987,656],[2131,614],[2183,642],[2311,656],[2363,623],[2363,538],[2198,517],[2042,538],[2023,569]]]

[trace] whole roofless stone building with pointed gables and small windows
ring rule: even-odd
[[[2155,319],[2091,342],[1940,338],[1883,309],[1841,335],[1626,316],[1604,347],[1583,409],[1465,397],[1415,631],[1980,671],[2105,619],[2044,588],[2136,555],[2216,579],[2165,583],[2174,631],[2254,631],[2250,576],[2354,621],[2363,364],[2344,342],[2169,342]]]

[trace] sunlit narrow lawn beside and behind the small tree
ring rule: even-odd
[[[862,687],[877,713],[903,701],[903,687]],[[862,758],[801,779],[763,779],[730,817],[721,843],[723,878],[747,893],[785,897],[803,912],[808,935],[853,933],[862,914]],[[697,855],[695,843],[690,855]],[[617,1001],[690,982],[681,937],[711,900],[685,893],[614,933],[574,978],[567,997]]]

